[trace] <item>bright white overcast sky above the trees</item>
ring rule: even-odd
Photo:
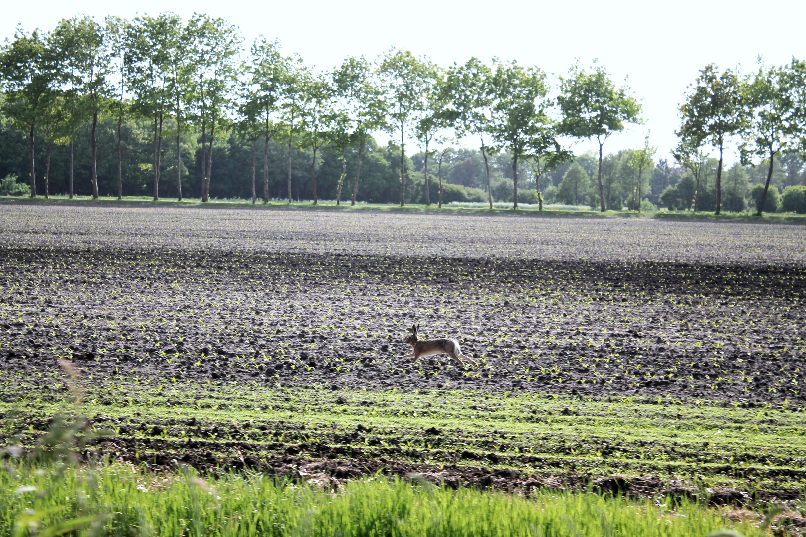
[[[345,56],[374,59],[390,47],[408,48],[447,66],[470,56],[518,60],[563,74],[576,58],[597,58],[613,79],[643,101],[644,125],[631,126],[605,143],[605,152],[641,147],[646,130],[658,155],[675,146],[677,105],[705,64],[741,66],[752,72],[756,58],[767,64],[806,58],[803,25],[806,1],[767,2],[211,2],[210,0],[103,2],[4,2],[0,35],[50,30],[59,19],[88,14],[172,11],[187,19],[193,11],[223,17],[239,26],[248,46],[257,35],[279,38],[286,53],[297,52],[320,68]],[[379,142],[383,143],[383,135]],[[580,142],[576,153],[596,149]],[[409,152],[409,151],[407,151]],[[733,155],[729,155],[733,160]]]

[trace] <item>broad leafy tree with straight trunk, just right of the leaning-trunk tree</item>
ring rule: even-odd
[[[513,205],[517,209],[517,163],[527,155],[561,151],[555,122],[548,112],[546,73],[513,61],[496,64],[492,76],[489,132],[497,150],[512,155]]]

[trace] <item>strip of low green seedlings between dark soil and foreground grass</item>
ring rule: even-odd
[[[15,378],[4,372],[2,378]],[[48,416],[69,411],[62,389],[2,386],[5,440],[27,446]],[[652,477],[690,489],[737,488],[762,498],[806,489],[806,415],[779,404],[580,399],[476,390],[330,390],[229,382],[95,381],[85,412],[116,437],[98,449],[124,461],[197,467],[336,461],[372,473],[449,470],[471,476]],[[341,462],[339,462],[341,461]],[[296,468],[296,466],[295,466]],[[398,472],[398,473],[401,473]],[[503,481],[502,481],[503,482]],[[522,483],[522,481],[521,481]]]

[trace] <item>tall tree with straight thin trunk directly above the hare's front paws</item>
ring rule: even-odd
[[[401,136],[401,207],[405,205],[405,134],[415,114],[422,109],[421,96],[425,91],[428,68],[425,61],[415,58],[409,51],[386,53],[379,72],[383,81],[388,105],[388,116],[393,123],[389,132],[397,130]]]

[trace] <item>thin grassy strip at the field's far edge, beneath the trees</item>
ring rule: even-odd
[[[520,208],[514,211],[512,207],[501,208],[501,204],[496,204],[494,209],[488,209],[486,206],[479,207],[478,204],[467,204],[467,206],[459,204],[445,204],[442,208],[438,208],[435,204],[426,206],[425,204],[407,204],[401,207],[397,204],[372,204],[372,203],[359,203],[355,205],[347,203],[335,204],[334,201],[320,201],[314,205],[310,201],[293,201],[288,203],[284,200],[270,200],[268,204],[264,204],[262,200],[258,200],[256,204],[251,204],[251,200],[210,200],[207,203],[202,203],[200,200],[172,200],[163,199],[154,201],[150,196],[124,196],[123,200],[118,200],[115,197],[101,196],[97,200],[93,200],[89,196],[74,196],[72,200],[68,196],[50,196],[47,200],[43,197],[10,197],[0,196],[0,203],[18,203],[18,204],[95,204],[106,206],[160,206],[160,207],[208,207],[218,209],[307,209],[318,211],[375,211],[383,213],[470,213],[470,214],[517,214],[521,216],[533,217],[623,217],[623,218],[660,218],[668,220],[694,220],[694,221],[750,221],[750,222],[782,222],[788,224],[806,224],[806,215],[799,215],[795,213],[764,213],[762,217],[755,216],[755,213],[723,213],[716,215],[713,212],[700,211],[699,213],[692,213],[690,211],[649,211],[638,213],[636,211],[605,211],[601,213],[596,210],[562,210],[546,208],[542,211],[533,208]]]

